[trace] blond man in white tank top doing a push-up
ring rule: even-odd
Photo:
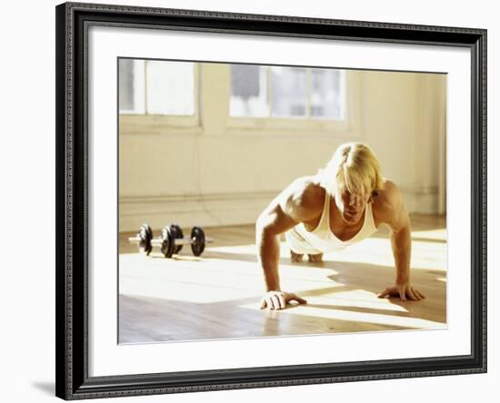
[[[324,170],[292,182],[256,221],[257,257],[267,288],[261,307],[283,310],[292,300],[306,303],[280,288],[280,234],[285,233],[293,261],[307,254],[314,262],[321,261],[324,252],[341,251],[364,240],[382,223],[391,230],[396,275],[395,284],[379,298],[424,299],[410,283],[410,219],[401,192],[382,177],[370,147],[340,145]]]

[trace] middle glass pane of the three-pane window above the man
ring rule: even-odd
[[[307,75],[304,68],[272,67],[273,116],[305,116]]]

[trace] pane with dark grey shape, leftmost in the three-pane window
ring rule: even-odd
[[[269,116],[265,66],[231,65],[229,114],[239,117]]]

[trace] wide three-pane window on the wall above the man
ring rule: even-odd
[[[232,64],[229,114],[342,123],[345,87],[345,70]]]

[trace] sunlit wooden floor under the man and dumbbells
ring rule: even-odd
[[[282,289],[308,303],[281,311],[259,309],[265,285],[256,264],[252,225],[205,229],[215,243],[198,258],[189,247],[173,259],[155,252],[146,257],[128,243],[131,233],[121,233],[119,341],[443,329],[445,219],[412,216],[412,224],[412,282],[425,300],[377,298],[395,280],[388,231],[381,228],[345,251],[325,255],[323,263],[292,263],[282,243]]]

